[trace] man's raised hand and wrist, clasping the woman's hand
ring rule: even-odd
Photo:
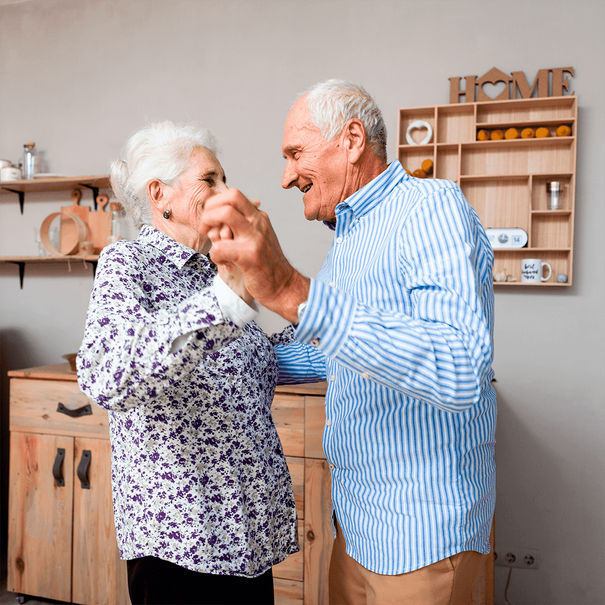
[[[212,241],[212,261],[235,264],[250,295],[295,323],[296,307],[309,295],[309,278],[284,257],[267,214],[237,189],[229,189],[206,201],[201,223],[201,233]]]

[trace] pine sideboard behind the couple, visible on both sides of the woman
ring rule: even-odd
[[[8,375],[7,589],[82,605],[130,605],[113,518],[107,411],[80,392],[68,364]],[[278,387],[273,400],[301,546],[273,567],[277,605],[327,603],[333,538],[330,469],[321,446],[326,386]],[[57,411],[59,404],[63,412]],[[68,414],[87,405],[89,414]],[[88,487],[82,486],[79,468]]]

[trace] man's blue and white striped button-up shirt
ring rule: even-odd
[[[489,552],[493,254],[451,181],[394,161],[336,206],[281,384],[327,380],[323,445],[347,552],[401,574]]]

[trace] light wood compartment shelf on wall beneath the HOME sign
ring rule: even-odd
[[[430,178],[457,183],[483,227],[521,227],[527,232],[527,247],[494,249],[494,273],[505,272],[516,278],[494,282],[494,286],[572,285],[577,115],[577,96],[399,110],[397,157],[405,169],[413,172],[423,160],[433,160]],[[425,120],[431,125],[433,138],[427,145],[407,144],[405,134],[414,120]],[[569,126],[571,135],[555,136],[560,125]],[[540,126],[548,128],[550,136],[476,140],[480,129],[505,131],[511,127]],[[547,209],[549,181],[562,181],[566,185],[562,210]],[[521,283],[522,258],[541,258],[550,263],[550,280],[541,284]],[[567,283],[557,282],[559,273],[567,275]]]

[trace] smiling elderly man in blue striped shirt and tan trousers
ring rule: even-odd
[[[328,381],[330,603],[471,603],[495,500],[493,256],[458,186],[387,165],[385,143],[356,85],[328,80],[292,106],[282,185],[335,229],[316,280],[240,192],[211,198],[204,221],[213,260],[294,326],[281,382]]]

